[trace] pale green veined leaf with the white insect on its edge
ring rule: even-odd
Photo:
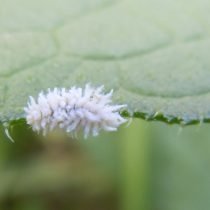
[[[122,114],[210,121],[210,2],[2,0],[0,121],[24,118],[29,95],[104,84]]]

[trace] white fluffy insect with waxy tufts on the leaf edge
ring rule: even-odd
[[[104,94],[103,89],[89,84],[84,89],[48,89],[39,94],[37,102],[30,96],[24,108],[27,123],[43,135],[57,128],[72,133],[83,130],[85,138],[90,133],[97,136],[100,130],[116,131],[127,121],[119,114],[126,105],[112,105],[113,90]]]

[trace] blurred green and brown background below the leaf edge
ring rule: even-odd
[[[133,120],[72,139],[14,125],[0,136],[0,209],[208,210],[209,125]]]

